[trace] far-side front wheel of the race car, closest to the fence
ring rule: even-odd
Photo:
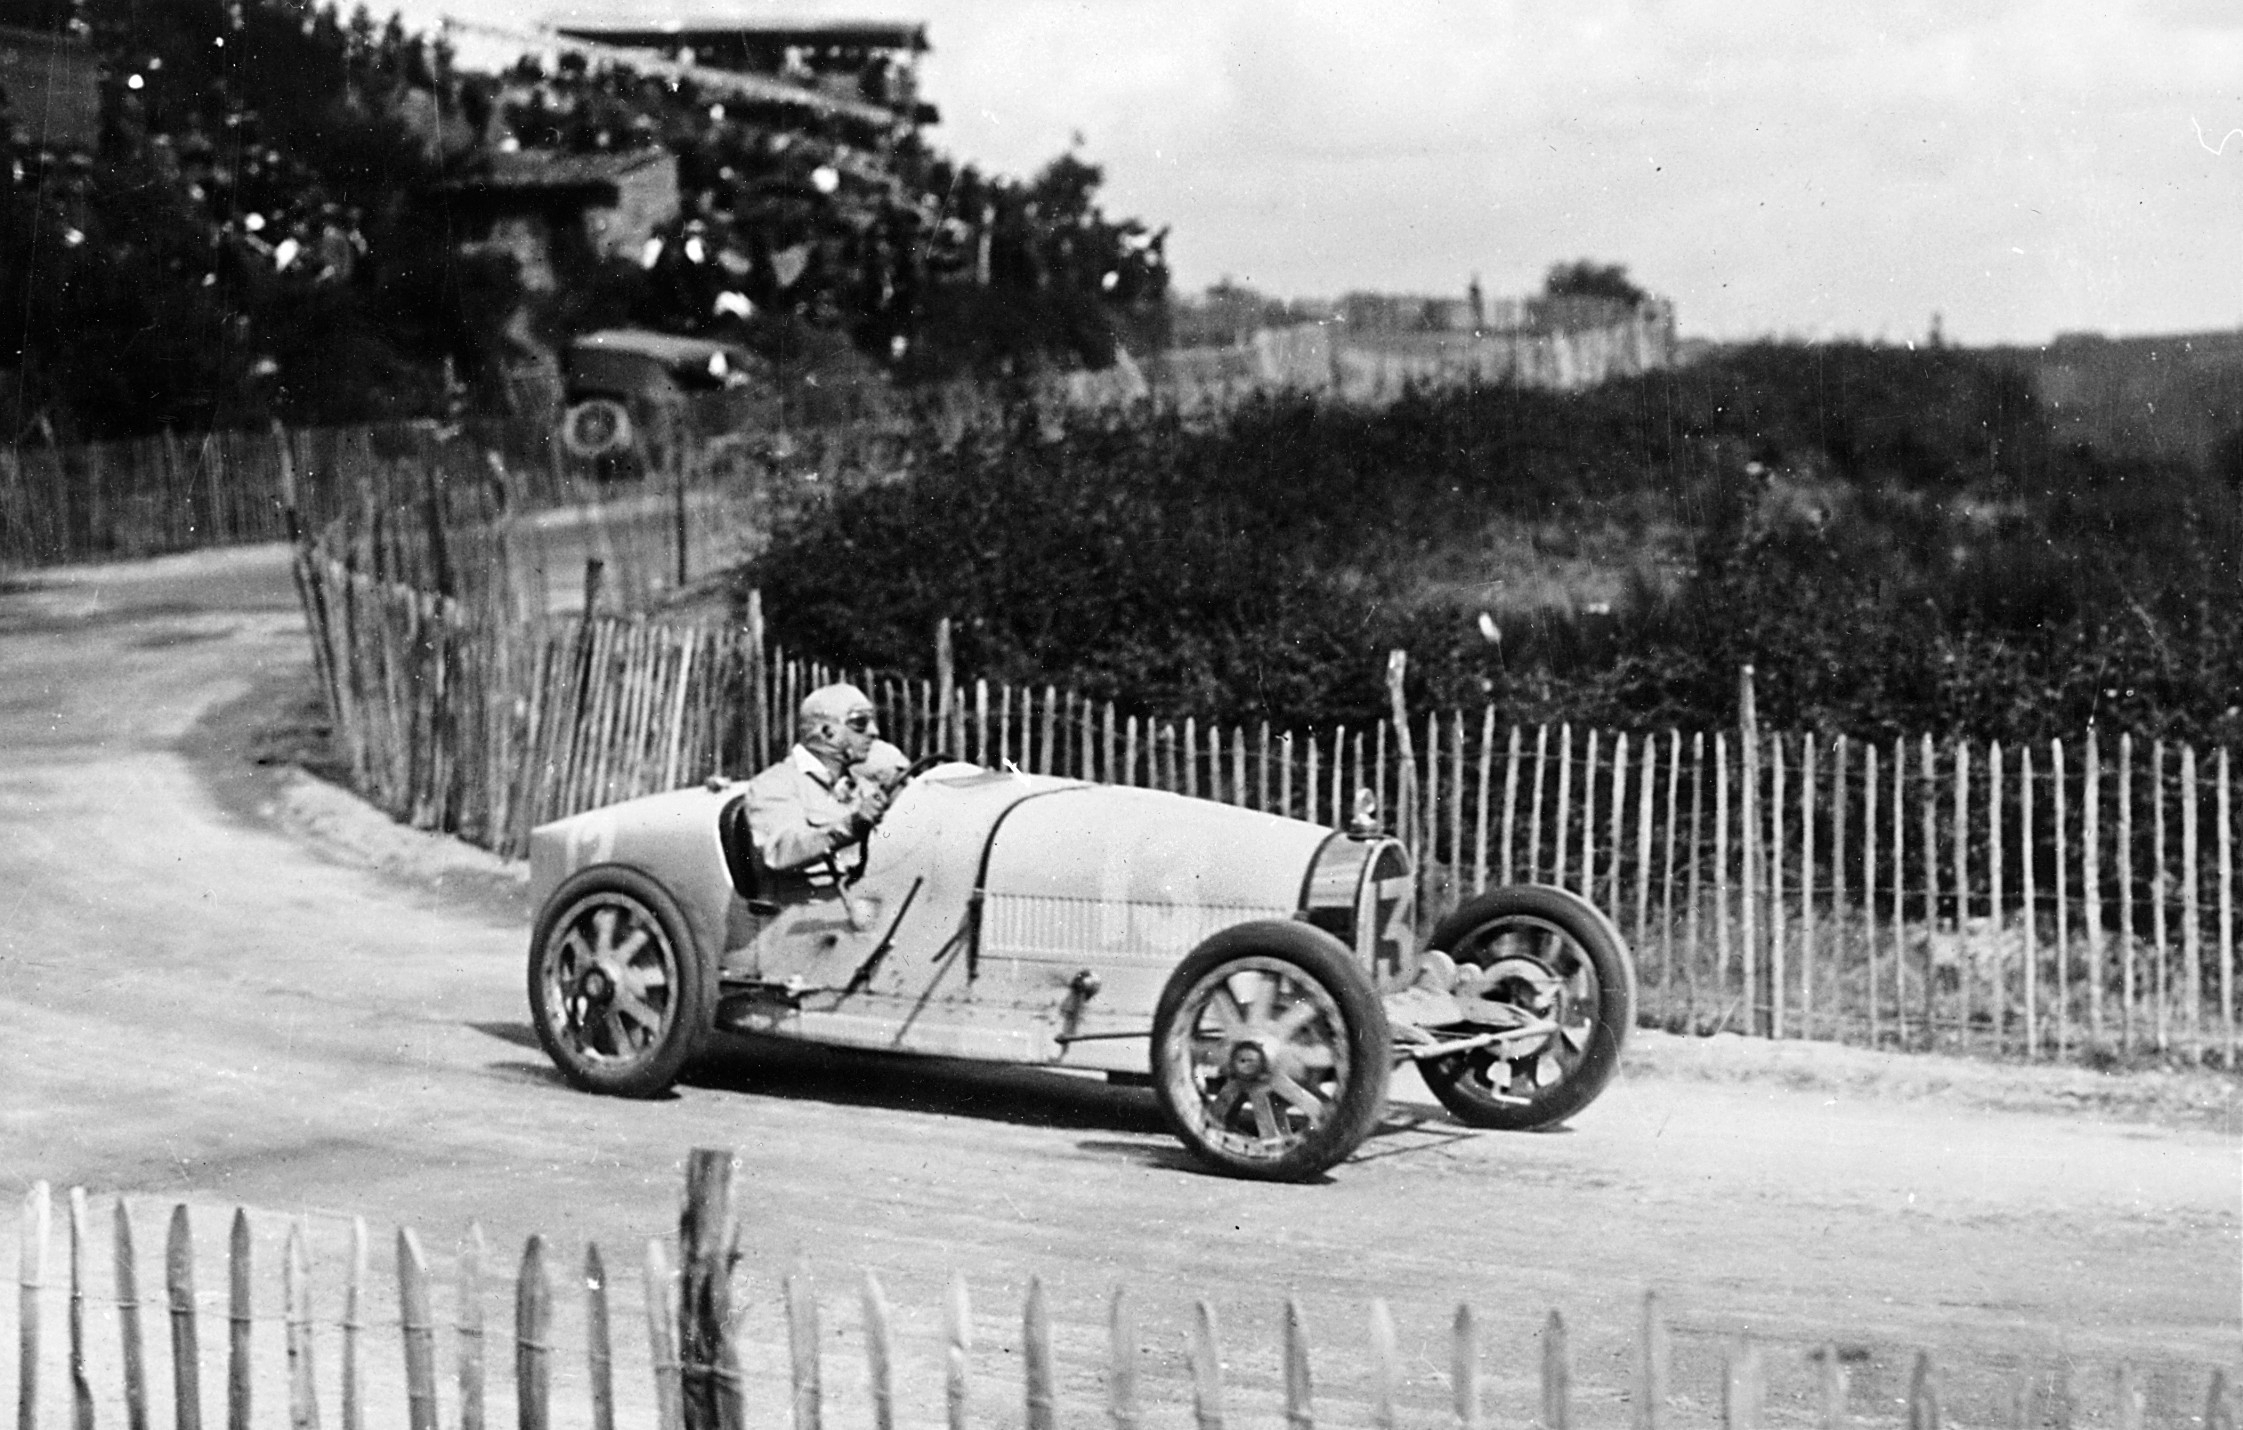
[[[1460,1121],[1514,1132],[1552,1127],[1613,1080],[1635,1022],[1635,964],[1593,903],[1543,885],[1494,890],[1442,919],[1431,948],[1453,957],[1467,977],[1485,971],[1480,997],[1557,1022],[1554,1033],[1514,1056],[1480,1049],[1418,1065]]]

